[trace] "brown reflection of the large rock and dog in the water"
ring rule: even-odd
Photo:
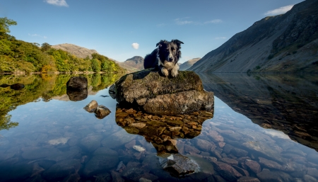
[[[116,123],[126,132],[145,137],[157,150],[160,165],[172,176],[184,176],[199,171],[196,161],[179,154],[177,139],[192,139],[201,134],[205,120],[213,113],[199,111],[184,115],[151,115],[133,108],[116,109]],[[135,148],[136,147],[136,148]],[[139,150],[134,146],[134,149]],[[142,148],[142,147],[141,147]],[[143,152],[140,149],[139,152]]]

